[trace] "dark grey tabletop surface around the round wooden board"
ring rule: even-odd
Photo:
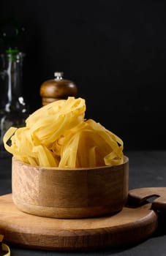
[[[166,187],[166,151],[127,151],[129,157],[129,189]],[[0,159],[0,195],[12,192],[11,158]],[[1,215],[1,209],[0,209]],[[102,249],[93,252],[54,252],[23,249],[10,246],[11,256],[64,256],[64,255],[166,255],[166,213],[159,214],[159,227],[146,241],[126,248]],[[1,221],[1,218],[0,218]]]

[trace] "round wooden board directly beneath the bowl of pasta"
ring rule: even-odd
[[[11,194],[0,197],[0,219],[0,233],[7,243],[68,251],[136,244],[151,236],[157,227],[157,214],[151,203],[124,207],[113,216],[53,219],[19,211]]]

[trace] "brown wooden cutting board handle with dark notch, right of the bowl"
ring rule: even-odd
[[[166,210],[166,187],[143,187],[129,190],[128,204],[140,206],[151,197],[156,197],[152,202],[152,208],[158,211]]]

